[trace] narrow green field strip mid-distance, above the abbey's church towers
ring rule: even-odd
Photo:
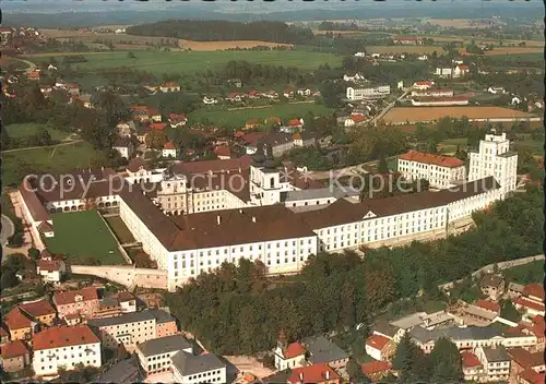
[[[190,121],[199,121],[203,118],[212,123],[226,127],[244,127],[250,119],[266,119],[278,117],[281,119],[300,118],[307,112],[314,116],[330,115],[332,109],[317,104],[280,104],[265,108],[246,108],[228,111],[221,108],[201,108],[189,115]]]

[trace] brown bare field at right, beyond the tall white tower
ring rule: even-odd
[[[383,117],[385,123],[404,124],[435,121],[443,117],[460,119],[525,119],[531,113],[501,107],[395,107]]]

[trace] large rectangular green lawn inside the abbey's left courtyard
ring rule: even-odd
[[[100,264],[127,264],[118,242],[96,211],[52,214],[54,238],[46,238],[52,253],[64,254],[72,263],[92,257]]]

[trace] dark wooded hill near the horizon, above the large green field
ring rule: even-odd
[[[127,34],[195,41],[261,40],[284,44],[302,44],[313,38],[311,29],[282,22],[240,23],[222,20],[167,20],[128,27]]]

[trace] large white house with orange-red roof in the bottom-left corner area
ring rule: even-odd
[[[100,367],[100,340],[87,325],[52,327],[34,335],[33,369],[37,376],[56,375],[63,367]]]

